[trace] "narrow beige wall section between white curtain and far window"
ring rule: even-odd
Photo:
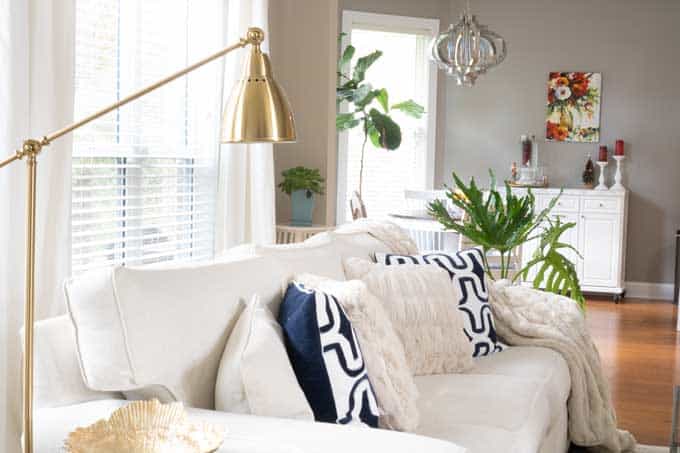
[[[319,224],[335,219],[337,10],[337,0],[269,2],[272,64],[297,126],[296,143],[274,146],[276,183],[287,168],[318,168],[330,194],[316,198],[314,223]],[[278,189],[276,217],[278,222],[290,221],[290,198]]]

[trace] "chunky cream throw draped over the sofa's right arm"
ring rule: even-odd
[[[616,427],[600,355],[576,303],[552,293],[512,286],[507,280],[489,287],[496,331],[504,341],[549,348],[567,362],[571,375],[569,439],[594,451],[635,451],[635,438]]]

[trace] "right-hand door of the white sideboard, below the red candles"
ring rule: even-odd
[[[584,213],[579,229],[583,255],[581,283],[585,286],[616,286],[619,273],[618,214]]]

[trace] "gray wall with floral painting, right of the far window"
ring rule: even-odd
[[[460,4],[460,2],[458,2]],[[602,73],[601,143],[627,142],[630,189],[626,280],[673,281],[680,228],[680,1],[479,0],[481,23],[503,35],[509,54],[472,89],[447,90],[446,155],[451,170],[486,181],[520,159],[519,135],[544,139],[549,71]],[[457,14],[457,11],[453,11]],[[577,187],[595,144],[541,143],[551,183]],[[613,180],[609,165],[609,181]]]

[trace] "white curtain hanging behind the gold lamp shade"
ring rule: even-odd
[[[251,26],[268,32],[268,0],[226,1],[226,43],[237,42]],[[265,51],[267,42],[263,46]],[[241,76],[246,54],[247,50],[242,50],[226,58],[225,101]],[[216,251],[245,242],[273,243],[276,226],[272,145],[222,145],[219,173]]]

